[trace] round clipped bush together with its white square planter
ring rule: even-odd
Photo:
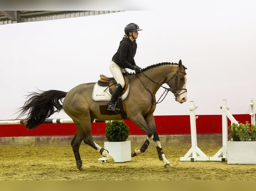
[[[131,141],[129,137],[129,127],[123,120],[110,121],[106,125],[106,137],[104,148],[109,151],[115,162],[131,161]]]

